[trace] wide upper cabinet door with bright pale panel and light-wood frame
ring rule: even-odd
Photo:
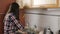
[[[53,8],[57,6],[57,0],[32,0],[32,7]]]

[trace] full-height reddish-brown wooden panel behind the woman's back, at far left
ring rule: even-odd
[[[9,5],[13,2],[15,2],[15,0],[0,0],[0,34],[4,34],[3,19],[5,16],[5,13],[8,10]]]

